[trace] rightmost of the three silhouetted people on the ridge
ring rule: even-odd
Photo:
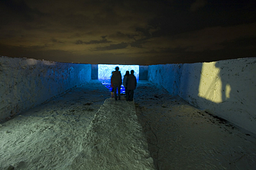
[[[134,76],[134,70],[131,70],[131,74],[128,76],[126,84],[128,90],[126,95],[126,101],[133,101],[134,90],[137,86],[137,80],[136,76]]]

